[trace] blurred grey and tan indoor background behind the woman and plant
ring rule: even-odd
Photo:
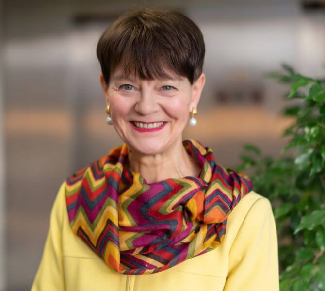
[[[0,290],[29,290],[60,184],[122,141],[106,124],[99,36],[131,8],[179,10],[200,27],[206,85],[185,138],[239,162],[244,143],[280,155],[285,62],[325,72],[325,1],[0,0]]]

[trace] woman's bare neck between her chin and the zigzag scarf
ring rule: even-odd
[[[146,155],[128,147],[128,164],[130,171],[138,172],[147,183],[155,183],[168,178],[198,176],[201,165],[186,152],[182,137],[163,152]]]

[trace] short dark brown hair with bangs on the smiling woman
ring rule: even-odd
[[[174,10],[145,8],[119,16],[101,35],[97,58],[106,84],[116,67],[125,77],[171,78],[164,69],[187,77],[202,73],[205,44],[197,25]]]

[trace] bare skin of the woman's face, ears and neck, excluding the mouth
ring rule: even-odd
[[[167,178],[197,176],[200,166],[182,145],[182,132],[189,113],[197,108],[205,84],[205,74],[191,85],[186,77],[176,79],[131,80],[118,78],[119,69],[112,73],[107,85],[102,74],[100,83],[106,104],[111,106],[114,129],[129,148],[129,170],[138,172],[147,183]],[[130,121],[166,121],[163,129],[138,132]]]

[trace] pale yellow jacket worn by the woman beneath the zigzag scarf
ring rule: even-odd
[[[55,198],[31,291],[278,291],[276,224],[270,201],[251,191],[227,218],[216,249],[155,274],[108,267],[69,225],[65,182]]]

